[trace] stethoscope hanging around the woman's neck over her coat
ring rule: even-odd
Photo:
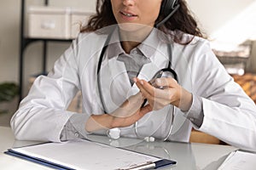
[[[100,100],[102,102],[102,110],[104,111],[104,113],[107,114],[107,110],[106,110],[106,103],[102,97],[102,83],[101,83],[101,74],[100,74],[100,71],[101,71],[101,67],[102,67],[102,60],[104,58],[104,54],[108,48],[108,43],[110,42],[110,39],[112,37],[112,34],[113,34],[113,31],[108,34],[108,37],[107,37],[107,40],[106,42],[104,43],[104,46],[102,48],[102,52],[100,54],[100,59],[98,61],[98,65],[97,65],[97,85],[98,85],[98,93],[99,93],[99,97],[100,97]],[[168,43],[167,44],[167,47],[168,47],[168,53],[169,53],[169,63],[168,63],[168,66],[166,68],[163,68],[163,69],[160,69],[160,71],[157,71],[155,74],[154,74],[154,77],[149,81],[149,83],[151,83],[153,86],[154,86],[154,81],[157,79],[157,78],[160,78],[160,77],[172,77],[174,78],[176,81],[178,81],[177,79],[177,73],[176,71],[174,71],[172,69],[172,44],[171,43]],[[155,88],[165,88],[165,87],[155,87]],[[143,102],[143,105],[145,105],[146,103],[146,100],[144,100]],[[166,137],[164,139],[162,139],[163,141],[166,141],[166,139],[169,138],[169,136],[171,135],[172,133],[172,127],[173,127],[173,120],[174,120],[174,106],[173,106],[173,109],[172,109],[172,121],[171,121],[171,126],[169,128],[169,131],[166,135]],[[138,130],[137,130],[137,122],[135,123],[135,133],[137,135],[138,138],[142,138],[142,136],[140,136],[138,134]],[[108,136],[112,139],[119,139],[119,135],[120,134],[120,130],[119,128],[114,128],[113,130],[110,129],[108,130]],[[154,138],[153,137],[144,137],[147,141],[154,141]]]

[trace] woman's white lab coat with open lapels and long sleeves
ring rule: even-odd
[[[62,128],[69,117],[76,114],[66,109],[78,90],[82,92],[84,114],[88,117],[90,114],[102,114],[96,66],[106,38],[106,35],[95,33],[80,34],[55,62],[49,76],[38,77],[11,120],[17,139],[59,142]],[[220,65],[209,43],[198,37],[186,46],[174,43],[172,55],[172,67],[181,86],[202,98],[204,119],[198,130],[236,147],[256,150],[255,104]],[[157,53],[150,60],[151,63],[143,65],[138,76],[147,81],[167,65],[165,43],[159,44]],[[136,85],[131,88],[125,65],[117,60],[117,56],[103,60],[100,74],[108,112],[114,111],[125,98],[138,92]],[[166,111],[169,111],[168,115]],[[170,113],[171,106],[148,113],[138,122],[139,134],[164,139],[170,125]],[[191,127],[192,123],[184,113],[175,108],[169,139],[188,142]],[[134,126],[122,128],[121,134],[137,137]]]

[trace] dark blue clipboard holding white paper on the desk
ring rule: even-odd
[[[139,170],[176,164],[176,161],[148,156],[88,140],[46,143],[4,152],[55,169]]]

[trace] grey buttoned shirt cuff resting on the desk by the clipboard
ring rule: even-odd
[[[89,117],[81,113],[73,114],[61,131],[61,141],[86,139],[89,133],[85,131],[85,123]]]

